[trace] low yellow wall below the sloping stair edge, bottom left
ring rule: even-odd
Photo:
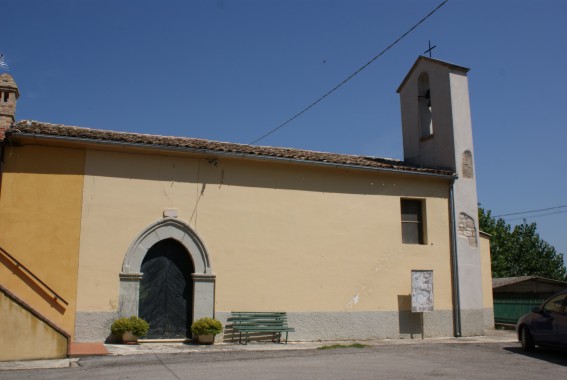
[[[67,356],[67,338],[0,291],[0,361]]]

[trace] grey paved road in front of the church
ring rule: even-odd
[[[84,358],[77,368],[3,371],[0,379],[567,379],[567,352],[517,343]]]

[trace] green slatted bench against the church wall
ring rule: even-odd
[[[272,340],[281,343],[282,333],[285,332],[285,344],[288,333],[295,332],[287,325],[285,312],[233,311],[227,321],[234,331],[239,333],[238,343],[242,344],[242,333],[245,334],[244,344],[248,344],[250,333],[272,333]]]

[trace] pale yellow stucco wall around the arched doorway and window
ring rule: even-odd
[[[77,310],[116,310],[124,255],[165,208],[207,246],[217,311],[397,311],[412,269],[450,310],[447,196],[417,176],[89,150]],[[425,199],[427,245],[401,243],[400,197]]]

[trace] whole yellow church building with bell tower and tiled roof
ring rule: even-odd
[[[15,121],[0,75],[0,360],[65,357],[131,315],[148,340],[231,311],[287,312],[290,341],[483,335],[468,71],[411,67],[403,160]]]

